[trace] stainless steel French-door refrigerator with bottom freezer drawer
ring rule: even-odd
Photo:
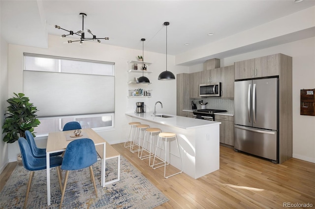
[[[235,81],[234,149],[279,162],[279,78]]]

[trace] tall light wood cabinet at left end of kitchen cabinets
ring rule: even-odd
[[[176,114],[183,116],[183,109],[189,109],[189,74],[176,75]]]

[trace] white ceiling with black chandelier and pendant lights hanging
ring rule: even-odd
[[[47,48],[47,34],[90,29],[101,44],[177,55],[315,5],[315,0],[1,0],[1,36]],[[208,33],[214,35],[209,36]],[[70,36],[67,36],[70,37]],[[78,36],[73,36],[72,40]],[[86,37],[88,33],[86,33]],[[61,42],[66,40],[61,39]],[[189,43],[189,45],[185,45]],[[72,43],[78,44],[78,42]],[[84,44],[84,43],[83,43]]]

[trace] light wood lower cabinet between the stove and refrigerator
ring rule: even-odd
[[[215,120],[221,122],[220,143],[234,146],[234,116],[216,114]]]

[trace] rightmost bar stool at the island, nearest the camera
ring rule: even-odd
[[[160,138],[161,138],[161,141],[162,141],[162,146],[164,146],[164,154],[165,154],[165,155],[164,155],[164,159],[162,159],[162,162],[159,162],[159,163],[157,163],[157,164],[154,164],[155,159],[156,159],[157,149],[158,149],[158,143],[157,143],[155,156],[154,156],[154,158],[153,158],[152,168],[153,168],[153,169],[156,169],[156,168],[159,168],[159,167],[164,166],[164,178],[167,179],[168,177],[171,177],[171,176],[174,176],[174,175],[176,175],[176,174],[180,174],[180,173],[183,172],[183,161],[182,161],[182,157],[181,157],[181,152],[180,152],[180,150],[179,150],[179,145],[178,145],[178,140],[177,140],[176,133],[172,133],[172,132],[161,132],[161,133],[158,134],[158,142],[159,142],[159,139],[160,139]],[[180,160],[181,160],[181,165],[182,165],[182,170],[181,170],[180,172],[175,173],[175,174],[172,174],[172,175],[169,175],[169,176],[165,176],[166,165],[170,164],[170,162],[166,164],[166,145],[167,145],[167,141],[169,141],[171,138],[175,138],[175,140],[176,140],[176,145],[177,145],[177,150],[178,150],[178,154],[179,154],[179,155],[177,156],[177,155],[171,153],[171,149],[170,149],[171,146],[170,146],[170,148],[169,148],[169,154],[170,154],[170,155],[173,155],[173,156],[175,156],[175,157],[179,157],[179,158],[180,158]],[[165,144],[163,143],[163,140],[165,140]],[[170,141],[169,141],[169,143],[170,143]],[[171,145],[171,144],[170,144],[170,145]],[[161,148],[161,147],[159,147],[159,148]],[[171,161],[171,159],[169,159],[169,161]],[[162,163],[164,163],[164,165],[160,165],[160,166],[158,166],[158,167],[154,167],[155,165],[162,164]]]

